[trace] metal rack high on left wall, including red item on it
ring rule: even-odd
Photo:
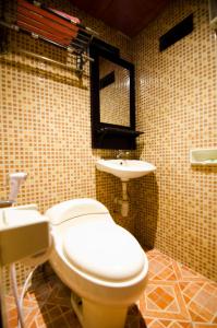
[[[16,22],[11,24],[4,19],[0,19],[0,25],[12,31],[31,35],[35,39],[43,39],[59,48],[65,49],[68,54],[76,56],[75,71],[81,75],[84,65],[93,61],[88,56],[88,47],[96,32],[81,24],[80,20],[63,12],[48,8],[38,1],[17,0]],[[3,45],[4,42],[4,45]],[[5,39],[1,37],[0,51],[5,47]],[[64,66],[45,56],[31,51],[19,50],[28,56],[35,56],[50,63]]]

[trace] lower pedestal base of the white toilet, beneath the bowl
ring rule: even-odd
[[[71,303],[83,328],[124,328],[128,307],[93,303],[82,300],[74,292]]]

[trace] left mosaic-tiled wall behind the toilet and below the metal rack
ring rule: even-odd
[[[117,31],[77,11],[68,0],[44,2],[79,16],[131,60],[131,44]],[[95,168],[97,157],[113,157],[114,152],[92,150],[88,63],[80,80],[69,69],[19,52],[33,51],[73,67],[74,59],[67,58],[64,50],[16,33],[10,35],[10,47],[15,51],[0,56],[0,199],[8,199],[8,174],[24,171],[28,177],[17,204],[37,203],[44,212],[68,199],[93,197],[132,231],[130,216],[122,220],[113,213],[113,199],[121,191],[118,178]],[[17,268],[22,282],[28,268]]]

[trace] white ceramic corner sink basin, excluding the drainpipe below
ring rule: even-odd
[[[155,165],[136,160],[98,160],[96,167],[119,177],[122,181],[144,176],[156,169]]]

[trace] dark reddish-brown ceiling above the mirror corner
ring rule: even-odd
[[[133,37],[152,22],[168,0],[70,0],[81,10]]]

